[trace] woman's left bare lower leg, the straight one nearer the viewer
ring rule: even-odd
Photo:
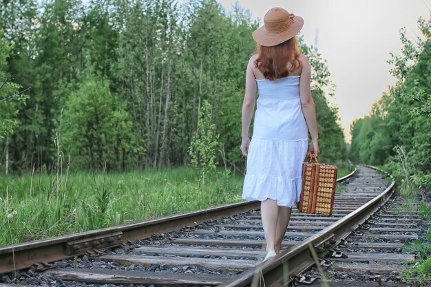
[[[267,199],[260,205],[260,215],[266,240],[266,252],[275,251],[275,233],[277,229],[278,208],[275,200]]]

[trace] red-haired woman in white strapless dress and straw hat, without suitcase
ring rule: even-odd
[[[242,198],[262,202],[264,261],[280,252],[291,208],[299,201],[308,131],[309,152],[319,154],[310,64],[299,53],[295,36],[302,25],[301,17],[283,8],[269,10],[264,26],[253,32],[257,53],[246,70],[241,151],[247,167]],[[259,98],[250,141],[256,88]]]

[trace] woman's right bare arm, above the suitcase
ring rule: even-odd
[[[311,135],[310,151],[316,156],[319,154],[319,144],[317,142],[319,135],[317,133],[316,109],[313,97],[311,96],[311,67],[306,56],[301,55],[299,58],[302,62],[301,78],[299,80],[299,94],[301,96],[302,111],[307,123],[308,131]]]

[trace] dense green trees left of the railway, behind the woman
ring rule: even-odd
[[[15,0],[0,11],[1,173],[244,172],[244,75],[258,26],[248,11],[215,0]],[[345,162],[328,66],[299,43],[313,67],[321,158]]]

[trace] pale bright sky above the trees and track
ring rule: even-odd
[[[235,0],[219,0],[231,10]],[[409,39],[421,36],[417,19],[430,19],[431,0],[238,0],[253,19],[279,6],[304,18],[302,34],[308,45],[317,43],[328,61],[341,126],[350,142],[350,123],[366,116],[372,103],[394,85],[386,63],[390,52],[401,54],[399,30],[406,27]],[[318,32],[317,32],[318,31]],[[317,34],[317,42],[316,42]]]

